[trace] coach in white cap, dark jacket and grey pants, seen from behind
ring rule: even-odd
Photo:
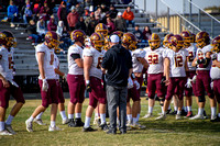
[[[132,74],[131,53],[120,44],[118,35],[110,36],[110,49],[105,54],[101,69],[107,72],[107,101],[110,127],[107,134],[117,133],[117,108],[119,106],[119,130],[127,133],[128,79]]]

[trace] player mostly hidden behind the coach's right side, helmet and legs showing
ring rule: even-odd
[[[132,33],[124,33],[121,40],[122,46],[130,50],[132,57],[132,61],[136,63],[136,57],[132,50],[136,49],[138,40],[136,36]],[[141,55],[140,55],[141,56]],[[143,58],[143,56],[142,56]],[[132,76],[134,86],[132,88],[128,87],[128,98],[127,98],[127,116],[128,116],[128,126],[133,128],[143,128],[141,124],[139,124],[139,116],[141,112],[141,99],[140,99],[140,83],[135,79],[135,76]],[[130,99],[133,100],[133,105],[130,105]],[[133,121],[133,123],[132,123]]]

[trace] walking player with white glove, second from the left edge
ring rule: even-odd
[[[40,71],[38,85],[41,89],[42,104],[38,105],[32,115],[25,121],[28,132],[33,132],[33,120],[41,112],[44,112],[50,104],[52,104],[52,109],[51,125],[48,131],[62,131],[55,123],[58,103],[58,89],[56,86],[56,74],[54,71],[54,48],[57,47],[58,44],[58,35],[53,31],[48,31],[45,34],[45,42],[35,47],[35,57]]]

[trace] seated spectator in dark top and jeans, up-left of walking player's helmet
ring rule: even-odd
[[[36,25],[33,20],[30,20],[30,25],[28,26],[28,34],[30,37],[34,40],[32,45],[36,45],[37,43],[41,43],[41,36],[36,33]],[[29,37],[26,40],[29,40]]]

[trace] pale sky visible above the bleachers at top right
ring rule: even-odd
[[[155,12],[155,1],[156,0],[145,0],[145,1],[146,1],[145,2],[146,11]],[[167,10],[167,8],[164,5],[164,3],[162,1],[165,1],[173,10],[175,10],[179,13],[183,13],[183,11],[184,11],[183,5],[185,3],[185,12],[189,11],[188,0],[158,0],[158,13],[163,13]],[[202,9],[207,8],[207,7],[212,7],[212,5],[220,7],[220,0],[191,0],[191,1]],[[144,9],[144,0],[135,0],[135,3],[141,9]],[[196,7],[193,7],[193,11],[196,12]]]

